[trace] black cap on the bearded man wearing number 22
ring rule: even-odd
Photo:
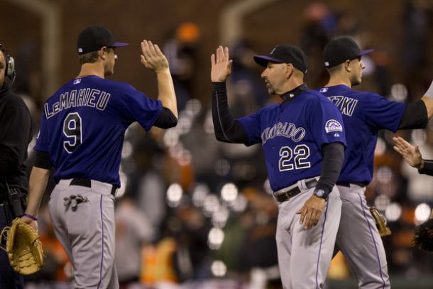
[[[276,63],[292,63],[302,73],[307,73],[308,61],[305,53],[297,46],[277,45],[269,55],[254,55],[254,61],[258,65],[266,67],[268,61]]]

